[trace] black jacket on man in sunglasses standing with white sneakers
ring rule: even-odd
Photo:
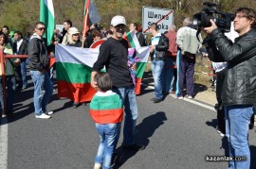
[[[33,35],[34,36],[34,35]],[[43,71],[48,69],[49,58],[46,43],[43,39],[35,36],[30,39],[27,47],[28,64],[32,71]]]

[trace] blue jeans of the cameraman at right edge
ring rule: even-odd
[[[229,161],[229,169],[249,169],[250,152],[248,144],[248,125],[252,114],[252,105],[234,105],[225,107],[226,135],[229,141],[229,156],[247,157],[247,161]]]

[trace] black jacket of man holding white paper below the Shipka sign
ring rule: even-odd
[[[150,42],[151,45],[151,42]],[[161,34],[160,40],[157,45],[155,45],[155,51],[150,53],[151,60],[164,60],[167,56],[167,51],[169,49],[169,39],[164,35]]]

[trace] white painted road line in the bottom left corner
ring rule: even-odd
[[[8,168],[8,120],[0,120],[0,169]]]

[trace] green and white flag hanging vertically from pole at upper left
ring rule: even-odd
[[[47,45],[50,44],[53,37],[55,26],[54,8],[52,0],[40,0],[40,21],[45,23],[46,32],[44,38],[47,40]]]

